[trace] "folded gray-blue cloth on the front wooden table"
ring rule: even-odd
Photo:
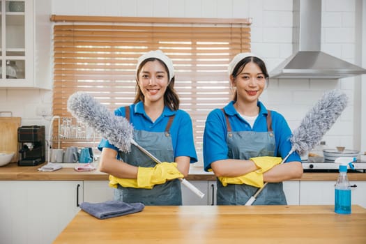
[[[104,201],[96,204],[82,202],[80,204],[82,210],[100,220],[137,213],[142,211],[144,207],[145,205],[139,202],[127,204],[123,201]]]

